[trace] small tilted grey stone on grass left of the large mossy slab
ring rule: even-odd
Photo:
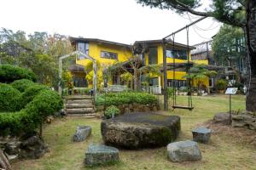
[[[77,127],[76,133],[73,135],[74,142],[84,141],[88,136],[90,136],[91,127],[90,126],[79,126]]]

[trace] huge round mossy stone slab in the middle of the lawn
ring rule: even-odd
[[[155,113],[129,113],[102,121],[105,144],[126,149],[166,146],[177,139],[179,116]]]

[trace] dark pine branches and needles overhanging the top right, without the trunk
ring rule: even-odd
[[[245,26],[246,2],[245,0],[214,0],[208,1],[207,10],[200,8],[205,1],[201,0],[137,0],[145,6],[172,9],[179,14],[189,12],[200,16],[212,16],[215,19],[232,26]]]

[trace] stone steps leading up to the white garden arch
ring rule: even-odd
[[[95,105],[88,95],[73,95],[65,98],[67,116],[95,117]]]

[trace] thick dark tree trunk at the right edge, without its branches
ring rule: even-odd
[[[247,111],[256,111],[256,1],[247,1]]]

